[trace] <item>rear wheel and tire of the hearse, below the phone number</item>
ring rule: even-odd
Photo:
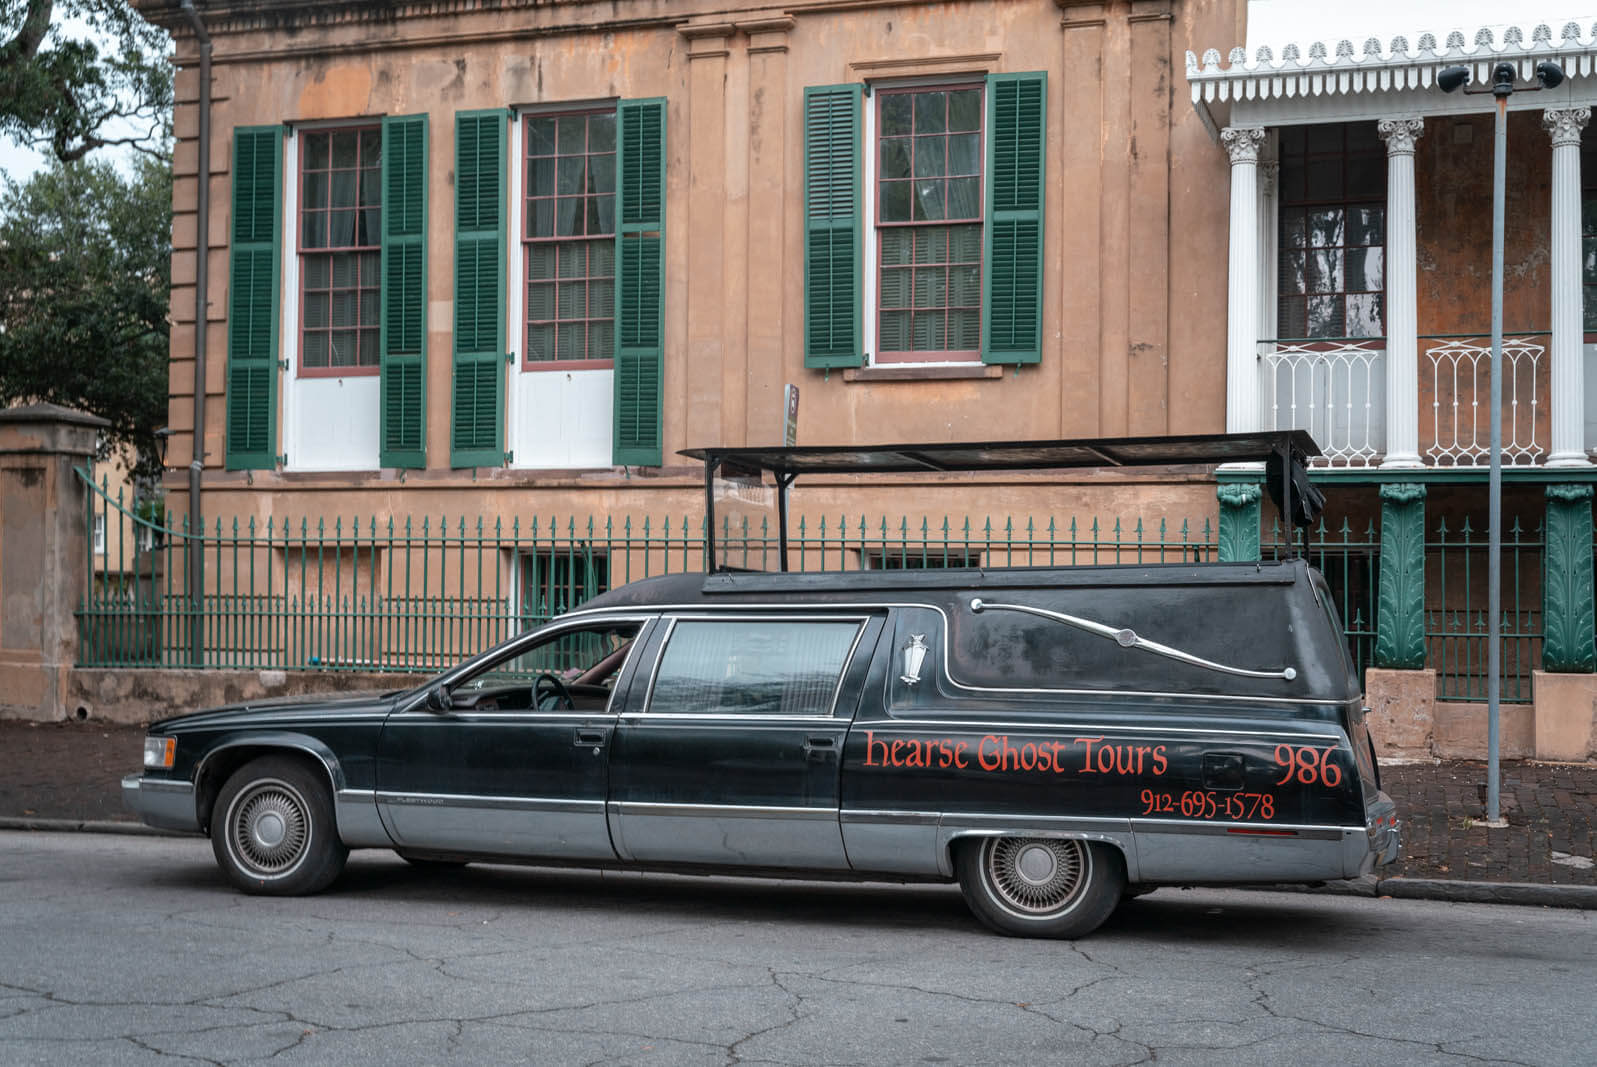
[[[965,902],[1012,938],[1084,938],[1110,917],[1126,885],[1113,845],[1067,837],[982,837],[957,855]]]

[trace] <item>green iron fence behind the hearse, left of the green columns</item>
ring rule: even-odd
[[[548,621],[605,589],[704,570],[703,518],[216,519],[190,532],[136,514],[94,486],[96,519],[117,543],[78,610],[78,666],[204,666],[431,672]],[[776,532],[720,524],[722,562],[767,567]],[[1183,562],[1215,557],[1199,522],[1100,519],[890,519],[802,516],[798,570]],[[190,597],[198,553],[201,596]],[[112,565],[115,561],[115,565]]]

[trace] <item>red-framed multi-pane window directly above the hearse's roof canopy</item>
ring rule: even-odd
[[[882,89],[875,107],[877,358],[979,359],[982,89]]]

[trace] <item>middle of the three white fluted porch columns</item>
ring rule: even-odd
[[[1420,466],[1413,145],[1425,131],[1425,120],[1383,118],[1378,129],[1386,142],[1386,458],[1381,466]]]

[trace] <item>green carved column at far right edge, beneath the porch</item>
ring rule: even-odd
[[[1547,548],[1541,585],[1541,669],[1591,674],[1592,487],[1547,486]]]

